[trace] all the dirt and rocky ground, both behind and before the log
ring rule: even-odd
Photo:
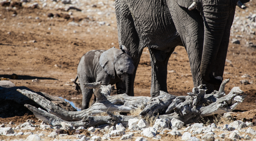
[[[81,107],[82,94],[77,93],[72,86],[80,57],[93,49],[118,47],[114,0],[21,0],[21,3],[20,1],[13,2],[15,0],[11,3],[1,3],[0,6],[1,80],[10,80],[16,86],[26,86],[37,92],[61,96],[73,101],[77,107]],[[224,79],[230,78],[230,82],[226,85],[227,91],[238,86],[248,94],[237,110],[230,113],[233,118],[215,120],[217,128],[214,128],[215,126],[210,122],[203,122],[204,125],[199,125],[199,123],[186,125],[188,129],[183,127],[172,130],[165,129],[168,128],[167,125],[170,126],[168,120],[163,123],[163,127],[159,128],[153,127],[154,123],[150,123],[152,127],[144,130],[151,136],[153,135],[152,137],[144,134],[143,128],[138,131],[125,128],[127,138],[131,136],[132,140],[139,137],[144,137],[145,140],[159,138],[181,140],[183,136],[188,137],[183,137],[184,140],[228,140],[229,138],[233,140],[234,138],[237,140],[250,140],[251,138],[252,140],[256,138],[255,127],[245,123],[246,121],[256,122],[255,0],[251,0],[246,6],[246,10],[238,7],[236,9],[223,76]],[[168,62],[168,92],[172,95],[186,95],[194,87],[188,55],[182,46],[176,47],[174,52]],[[18,77],[12,77],[11,74],[17,74]],[[136,74],[135,96],[150,96],[150,82],[149,52],[145,48]],[[113,91],[112,95],[115,94]],[[34,120],[36,123],[32,121],[28,123],[27,119]],[[238,127],[236,123],[232,123],[232,120],[241,120],[244,123],[239,122],[239,126],[240,124],[242,126]],[[14,124],[8,124],[11,121]],[[1,125],[1,134],[8,133],[7,136],[0,135],[0,140],[36,140],[36,138],[39,139],[38,137],[44,140],[97,140],[99,138],[93,136],[100,136],[104,139],[103,135],[105,139],[119,140],[124,133],[120,131],[119,135],[116,133],[113,137],[108,128],[95,129],[95,131],[81,129],[79,133],[74,130],[60,131],[58,127],[44,125],[45,123],[41,125],[41,123],[42,121],[38,121],[33,115],[0,118],[0,124],[4,124]],[[115,128],[120,130],[119,127]],[[83,138],[82,135],[86,137]],[[192,138],[189,138],[191,136]]]

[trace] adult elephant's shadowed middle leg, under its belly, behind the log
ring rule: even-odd
[[[150,61],[151,61],[151,97],[156,97],[161,91],[167,91],[167,65],[171,54],[174,51],[174,47],[169,53],[164,53],[156,49],[149,49]]]

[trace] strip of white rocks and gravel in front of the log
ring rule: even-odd
[[[116,126],[99,128],[73,127],[61,123],[52,127],[41,120],[28,119],[25,123],[4,123],[0,125],[0,140],[12,141],[100,141],[100,140],[184,140],[184,141],[229,141],[256,140],[255,122],[232,122],[232,113],[226,113],[216,123],[194,123],[184,125],[177,119],[161,118],[148,123],[144,119],[129,119],[128,127],[121,123]],[[151,126],[151,127],[150,127]]]

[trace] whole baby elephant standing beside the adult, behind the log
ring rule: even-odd
[[[109,50],[92,50],[85,53],[78,64],[74,81],[77,91],[80,89],[76,83],[77,78],[81,85],[82,110],[89,108],[93,94],[92,89],[83,86],[84,83],[102,81],[102,85],[116,84],[117,94],[123,91],[131,95],[133,70],[133,60],[125,46],[121,46],[121,50],[112,47]]]

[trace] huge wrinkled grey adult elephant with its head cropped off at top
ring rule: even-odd
[[[250,0],[116,0],[118,41],[132,54],[134,73],[143,48],[152,67],[152,97],[167,92],[167,63],[176,46],[187,50],[194,87],[210,93],[223,80],[236,5]],[[135,75],[133,75],[135,79]],[[133,92],[133,91],[132,91]]]

